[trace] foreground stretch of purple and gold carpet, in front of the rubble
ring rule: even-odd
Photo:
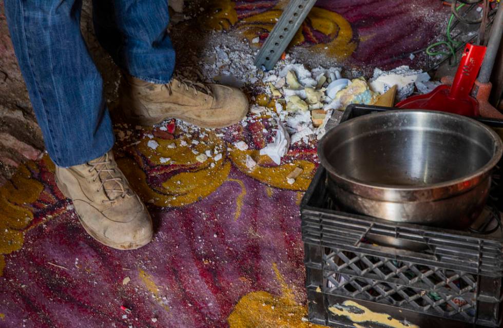
[[[27,163],[0,189],[0,326],[306,325],[298,190],[307,186],[314,160],[302,151],[284,159],[306,168],[293,186],[282,172],[291,164],[270,167],[265,160],[249,176],[240,157],[257,150],[242,152],[230,142],[240,131],[261,148],[265,141],[252,143],[249,131],[263,127],[237,125],[223,138],[176,132],[173,140],[157,128],[133,129],[118,142],[119,163],[151,205],[157,231],[151,244],[131,252],[85,234],[55,187],[48,158]],[[116,132],[123,131],[130,130]],[[146,146],[148,134],[162,150]],[[140,143],[128,146],[133,140]],[[211,168],[182,140],[199,140],[199,150],[231,148]],[[167,142],[178,149],[163,147]],[[186,164],[161,165],[160,157]]]

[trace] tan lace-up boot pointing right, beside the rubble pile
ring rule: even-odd
[[[124,75],[119,97],[126,119],[141,125],[176,118],[219,128],[241,121],[248,112],[248,100],[239,89],[186,79],[154,84]]]

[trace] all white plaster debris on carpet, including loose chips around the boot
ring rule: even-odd
[[[219,40],[222,42],[221,38]],[[307,69],[289,54],[286,54],[273,70],[264,71],[254,66],[257,50],[251,48],[247,41],[236,43],[235,39],[232,40],[234,42],[223,42],[224,44],[205,49],[199,59],[202,71],[189,71],[188,77],[195,78],[195,75],[198,75],[198,78],[205,82],[227,84],[246,91],[251,100],[248,115],[240,124],[213,131],[217,137],[240,151],[259,150],[261,158],[267,157],[271,161],[268,165],[287,164],[285,157],[292,147],[301,146],[303,149],[315,150],[317,141],[327,130],[327,124],[330,127],[336,125],[341,111],[350,104],[381,104],[381,95],[393,87],[393,97],[388,95],[391,91],[383,96],[392,103],[395,99],[395,89],[396,99],[400,101],[416,90],[425,93],[438,85],[430,81],[428,73],[413,70],[408,66],[400,66],[390,71],[376,68],[372,78],[367,81],[363,76],[356,76],[354,71],[343,71],[340,67]],[[261,131],[254,130],[254,133],[261,134],[260,138],[267,142],[257,148],[253,140],[244,138],[242,134],[244,130],[251,129],[259,122],[264,128],[261,128]],[[201,145],[204,145],[208,130],[178,120],[164,122],[154,128],[153,132],[144,133],[143,138],[148,138],[147,146],[156,151],[160,144],[153,138],[177,138],[173,137],[176,134],[175,129],[180,140],[163,143],[161,147],[189,147],[195,160],[201,164],[211,160],[210,165],[214,167],[215,163],[222,159],[223,152],[233,149],[212,148],[214,145],[210,144],[207,149],[202,149]],[[119,129],[117,133],[120,140],[131,137],[131,131]],[[176,163],[171,158],[159,160],[162,164],[183,164]],[[253,171],[257,164],[264,163],[264,160],[259,159],[258,155],[246,155],[243,162]],[[286,178],[287,182],[293,184],[300,172],[302,168],[292,171]]]

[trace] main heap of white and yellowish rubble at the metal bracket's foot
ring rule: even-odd
[[[376,69],[367,82],[340,67],[309,70],[288,54],[273,70],[265,71],[255,67],[255,55],[256,50],[247,42],[234,42],[207,49],[199,64],[208,82],[244,88],[253,95],[249,114],[242,124],[265,116],[270,126],[276,126],[274,142],[261,149],[260,154],[269,156],[278,165],[291,145],[316,147],[327,122],[340,118],[337,111],[340,113],[349,104],[374,104],[393,85],[397,85],[398,100],[409,97],[415,86],[421,93],[436,86],[428,82],[427,73],[408,66],[387,72]],[[247,149],[245,146],[241,148]]]

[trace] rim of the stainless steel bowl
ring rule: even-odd
[[[337,130],[340,127],[343,127],[345,125],[349,124],[356,124],[358,121],[362,121],[364,119],[369,119],[369,116],[372,115],[372,117],[378,117],[378,116],[385,116],[385,115],[390,115],[394,113],[403,113],[403,112],[421,112],[421,113],[427,113],[427,114],[436,114],[436,115],[444,115],[446,117],[453,117],[456,119],[460,120],[465,120],[467,123],[477,125],[479,128],[485,130],[491,138],[494,140],[495,144],[495,150],[493,153],[493,156],[491,157],[491,160],[487,162],[484,166],[481,168],[473,171],[470,175],[464,176],[462,178],[454,179],[454,180],[448,180],[448,181],[443,181],[439,183],[433,183],[433,184],[424,184],[424,185],[418,185],[418,186],[403,186],[403,185],[388,185],[388,184],[369,184],[364,181],[354,179],[351,177],[343,176],[337,172],[337,170],[334,168],[330,162],[327,161],[324,152],[322,151],[324,149],[324,145],[330,136],[332,134],[337,133]],[[503,153],[503,143],[501,142],[501,139],[499,138],[498,134],[492,130],[490,127],[472,119],[468,118],[462,115],[458,114],[453,114],[453,113],[448,113],[448,112],[442,112],[442,111],[436,111],[436,110],[421,110],[421,109],[400,109],[400,110],[389,110],[389,111],[384,111],[384,112],[377,112],[377,113],[370,113],[366,114],[351,120],[348,120],[346,122],[343,122],[339,124],[338,126],[332,128],[331,130],[327,131],[323,138],[321,138],[320,142],[318,143],[318,157],[320,159],[321,165],[330,173],[331,176],[340,179],[342,181],[346,181],[364,188],[376,188],[380,190],[393,190],[393,191],[421,191],[421,190],[428,190],[428,189],[437,189],[437,188],[446,188],[450,187],[453,185],[461,184],[463,182],[471,181],[476,179],[477,177],[480,177],[484,175],[485,173],[488,173],[500,160],[501,155]]]

